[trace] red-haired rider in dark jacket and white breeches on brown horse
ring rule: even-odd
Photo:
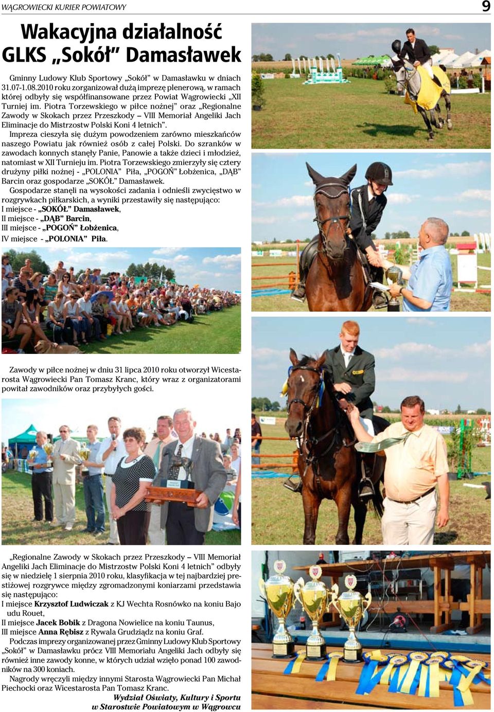
[[[374,407],[371,396],[374,393],[376,379],[374,375],[374,356],[359,347],[360,328],[356,321],[345,321],[340,333],[340,344],[326,352],[322,366],[330,375],[335,387],[340,407],[347,409],[348,404],[356,405],[361,422],[366,432],[374,436],[372,414]],[[365,462],[365,476],[359,483],[359,496],[362,500],[372,497],[372,464]]]

